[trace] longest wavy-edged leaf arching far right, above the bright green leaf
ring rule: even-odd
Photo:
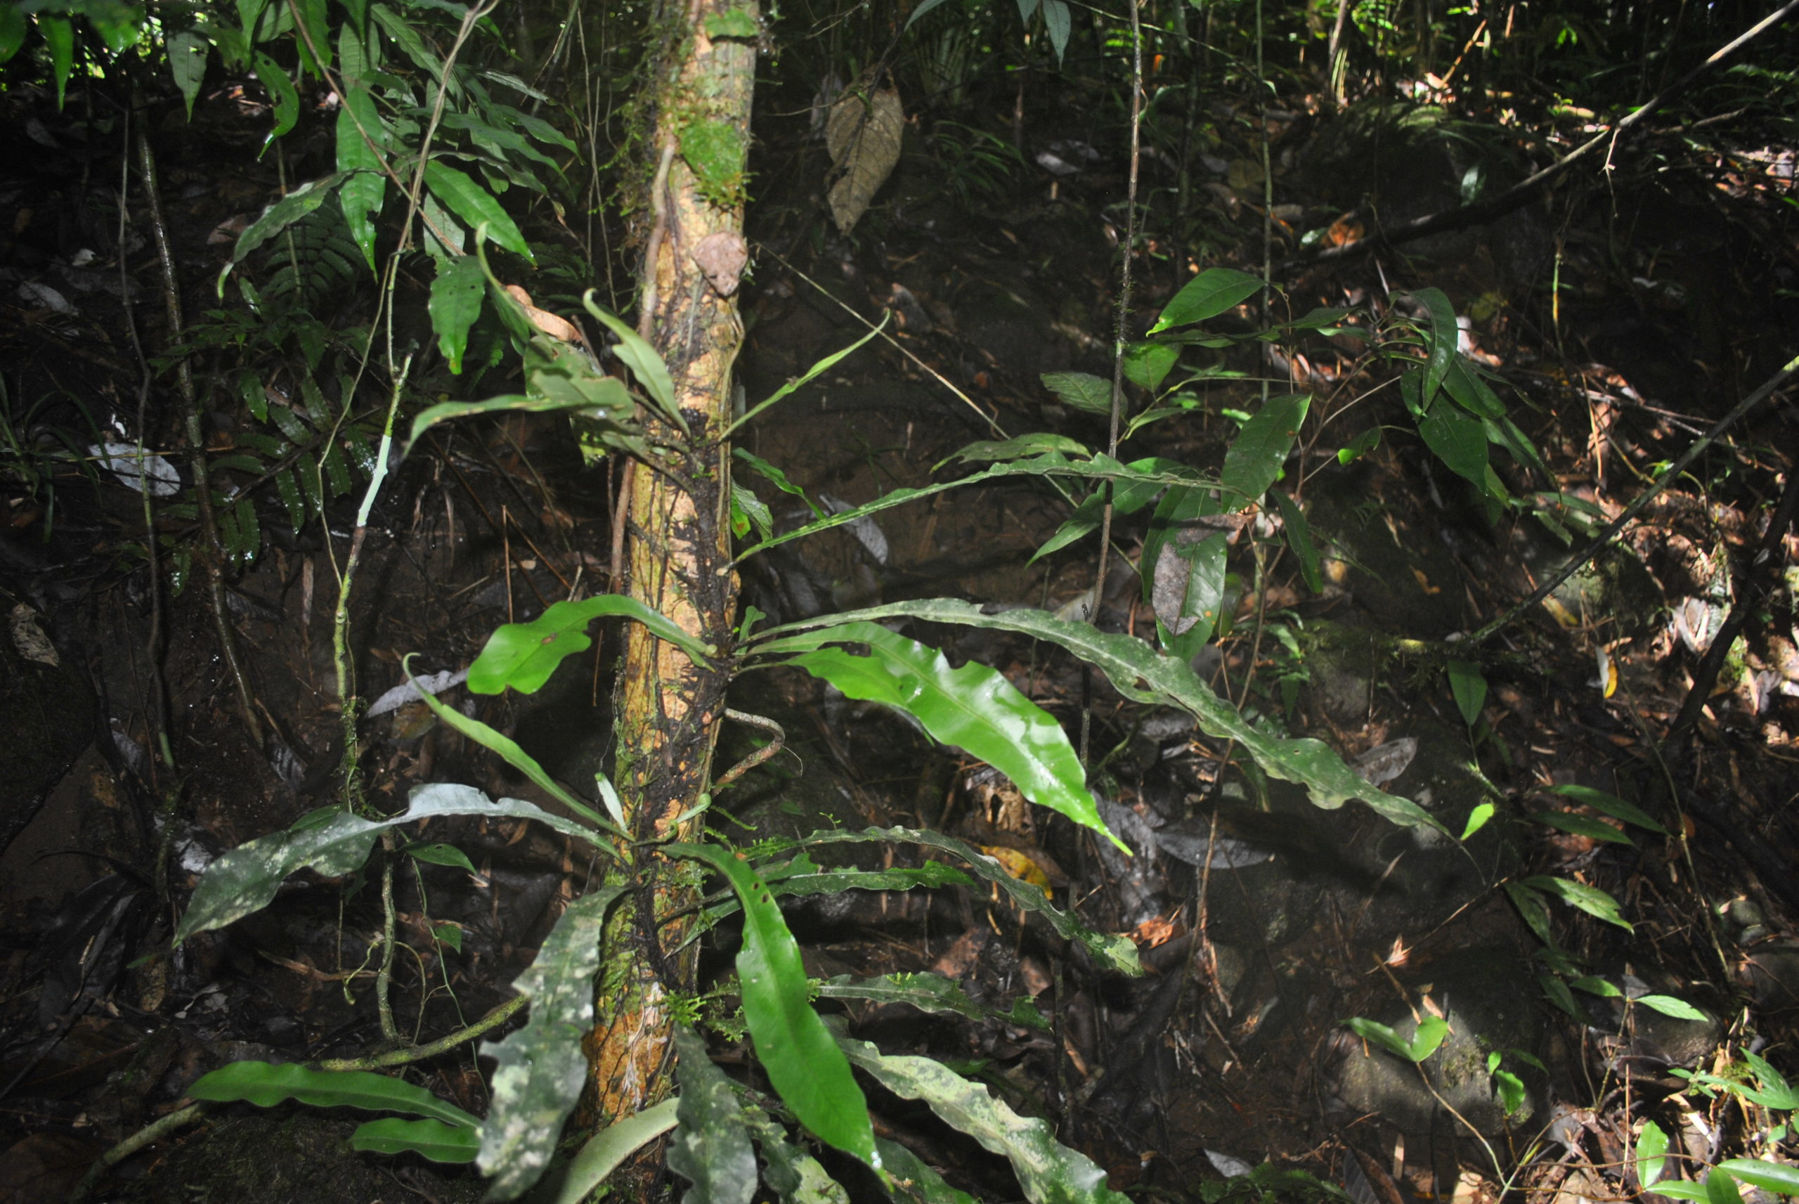
[[[1349,799],[1362,799],[1392,822],[1409,826],[1423,824],[1445,831],[1428,812],[1410,799],[1367,785],[1353,768],[1344,765],[1342,758],[1329,745],[1319,740],[1270,736],[1213,693],[1211,686],[1189,664],[1164,657],[1132,635],[1099,632],[1085,623],[1069,623],[1042,610],[982,614],[977,606],[946,598],[869,606],[867,610],[831,615],[829,621],[878,623],[907,615],[930,623],[957,623],[962,626],[1020,632],[1060,644],[1105,673],[1112,686],[1132,702],[1180,707],[1191,713],[1209,736],[1236,740],[1256,758],[1263,772],[1306,786],[1315,806],[1337,808]],[[761,633],[761,639],[766,639],[768,644],[757,650],[768,648],[770,651],[777,651],[784,642],[783,637],[815,621],[770,628]]]

